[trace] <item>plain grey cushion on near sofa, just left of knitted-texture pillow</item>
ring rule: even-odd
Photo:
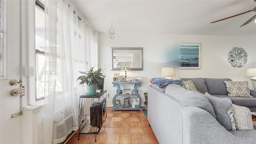
[[[212,104],[216,120],[226,128],[226,130],[236,130],[232,102],[229,98],[218,98],[208,94],[204,95]]]

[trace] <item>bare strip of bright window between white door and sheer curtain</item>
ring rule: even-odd
[[[36,0],[35,8],[36,25],[36,100],[44,98],[44,80],[45,80],[45,24],[44,24],[44,5]]]

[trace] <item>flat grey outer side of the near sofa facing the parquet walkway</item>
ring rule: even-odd
[[[148,122],[159,144],[182,142],[181,110],[180,102],[148,86]]]

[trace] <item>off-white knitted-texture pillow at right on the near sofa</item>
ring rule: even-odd
[[[253,130],[252,114],[249,108],[232,104],[237,130]]]

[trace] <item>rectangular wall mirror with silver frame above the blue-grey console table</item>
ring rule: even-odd
[[[129,66],[131,70],[143,70],[143,48],[112,47],[112,69],[121,70]]]

